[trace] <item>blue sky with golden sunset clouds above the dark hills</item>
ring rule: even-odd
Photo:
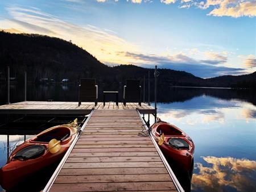
[[[255,16],[256,0],[0,0],[2,30],[71,40],[110,66],[202,78],[256,71]]]

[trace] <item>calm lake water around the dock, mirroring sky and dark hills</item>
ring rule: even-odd
[[[16,92],[19,87],[12,89]],[[122,93],[121,87],[117,89]],[[31,86],[28,100],[77,101],[76,90],[76,86]],[[11,102],[22,101],[23,93],[18,92]],[[1,104],[6,102],[4,91],[0,98]],[[159,87],[158,101],[158,116],[195,143],[192,191],[256,191],[255,91]],[[23,140],[24,135],[11,135],[10,145]],[[6,162],[6,142],[7,136],[0,135],[0,166]]]

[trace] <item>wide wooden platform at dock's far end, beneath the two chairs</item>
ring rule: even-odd
[[[103,102],[98,102],[95,106],[93,102],[82,102],[82,105],[78,106],[78,102],[24,101],[0,106],[0,114],[89,114],[92,108],[113,111],[138,108],[141,113],[154,113],[154,108],[146,103],[142,103],[141,106],[138,103],[126,103],[124,106],[122,102],[119,102],[117,106],[115,102],[106,102],[104,106]],[[99,115],[104,115],[104,113]]]

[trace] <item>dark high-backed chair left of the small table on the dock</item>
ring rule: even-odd
[[[79,106],[82,101],[93,101],[98,103],[98,85],[93,78],[81,78],[79,85]]]

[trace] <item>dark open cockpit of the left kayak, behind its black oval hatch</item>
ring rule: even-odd
[[[63,140],[71,135],[71,130],[68,127],[57,127],[52,130],[43,132],[31,141],[49,143],[52,139]]]

